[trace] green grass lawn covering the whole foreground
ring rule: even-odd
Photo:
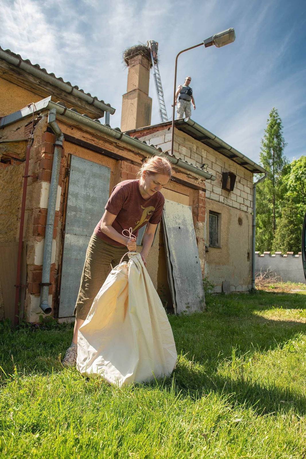
[[[172,377],[122,389],[61,367],[71,326],[0,325],[0,457],[306,458],[306,291],[206,302]]]

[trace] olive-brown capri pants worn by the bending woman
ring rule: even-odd
[[[117,266],[127,252],[127,247],[111,246],[95,234],[91,236],[86,251],[80,290],[73,312],[77,319],[86,319],[95,296],[110,272],[110,265],[112,267]],[[126,259],[128,260],[128,256]]]

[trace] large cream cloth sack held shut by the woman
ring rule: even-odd
[[[139,253],[112,269],[78,330],[77,369],[122,386],[170,375],[171,326]]]

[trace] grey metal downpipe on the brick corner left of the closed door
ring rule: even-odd
[[[56,197],[57,197],[57,186],[60,175],[61,166],[61,152],[63,148],[64,134],[61,132],[58,124],[56,123],[56,110],[51,108],[48,116],[48,124],[54,134],[56,135],[54,156],[52,163],[51,183],[49,202],[47,210],[47,223],[45,232],[45,245],[44,245],[44,257],[43,257],[43,273],[41,279],[41,291],[40,291],[40,308],[45,314],[50,314],[52,308],[49,306],[49,286],[50,284],[50,268],[51,268],[51,255],[52,255],[52,241],[53,241],[53,229],[54,229],[54,218],[56,212]]]

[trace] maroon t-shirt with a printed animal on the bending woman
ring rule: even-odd
[[[113,188],[105,209],[107,212],[117,215],[111,226],[119,234],[122,234],[123,229],[132,228],[132,233],[137,237],[139,228],[148,222],[157,224],[161,221],[164,203],[165,198],[160,191],[157,191],[149,199],[144,199],[140,194],[139,179],[124,180]],[[114,241],[102,233],[101,220],[95,227],[94,234],[111,246],[124,247],[120,242]]]

